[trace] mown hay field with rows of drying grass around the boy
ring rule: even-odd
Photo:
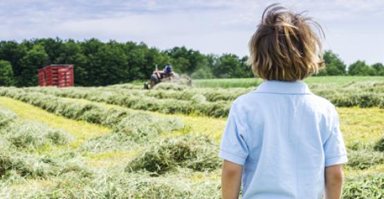
[[[340,115],[343,198],[384,198],[384,78],[306,82]],[[230,104],[260,83],[0,87],[0,198],[220,198]]]

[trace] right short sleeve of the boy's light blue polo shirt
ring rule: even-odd
[[[333,108],[334,109],[334,108]],[[333,111],[333,119],[329,123],[329,138],[324,143],[325,167],[348,162],[347,151],[340,131],[340,122],[336,109]]]

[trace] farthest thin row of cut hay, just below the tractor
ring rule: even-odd
[[[164,84],[163,84],[164,85]],[[177,89],[164,90],[159,84],[154,89],[148,90],[131,90],[131,89],[110,89],[98,88],[99,91],[118,92],[122,95],[140,95],[155,97],[157,99],[181,99],[196,101],[217,102],[232,101],[250,91],[254,91],[255,87],[250,88],[184,88],[181,91]],[[168,86],[171,87],[171,86]],[[378,106],[384,108],[384,82],[364,82],[352,83],[349,85],[324,85],[310,84],[311,91],[324,98],[329,99],[333,104],[340,107],[372,107]]]

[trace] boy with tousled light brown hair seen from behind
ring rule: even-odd
[[[324,65],[309,22],[320,28],[273,4],[250,39],[253,72],[264,82],[230,108],[219,153],[224,199],[238,198],[241,182],[243,198],[341,196],[347,154],[338,113],[301,81]]]

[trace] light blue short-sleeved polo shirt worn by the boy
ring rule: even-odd
[[[335,106],[301,81],[265,81],[233,102],[219,157],[244,165],[243,198],[320,199],[347,162]]]

